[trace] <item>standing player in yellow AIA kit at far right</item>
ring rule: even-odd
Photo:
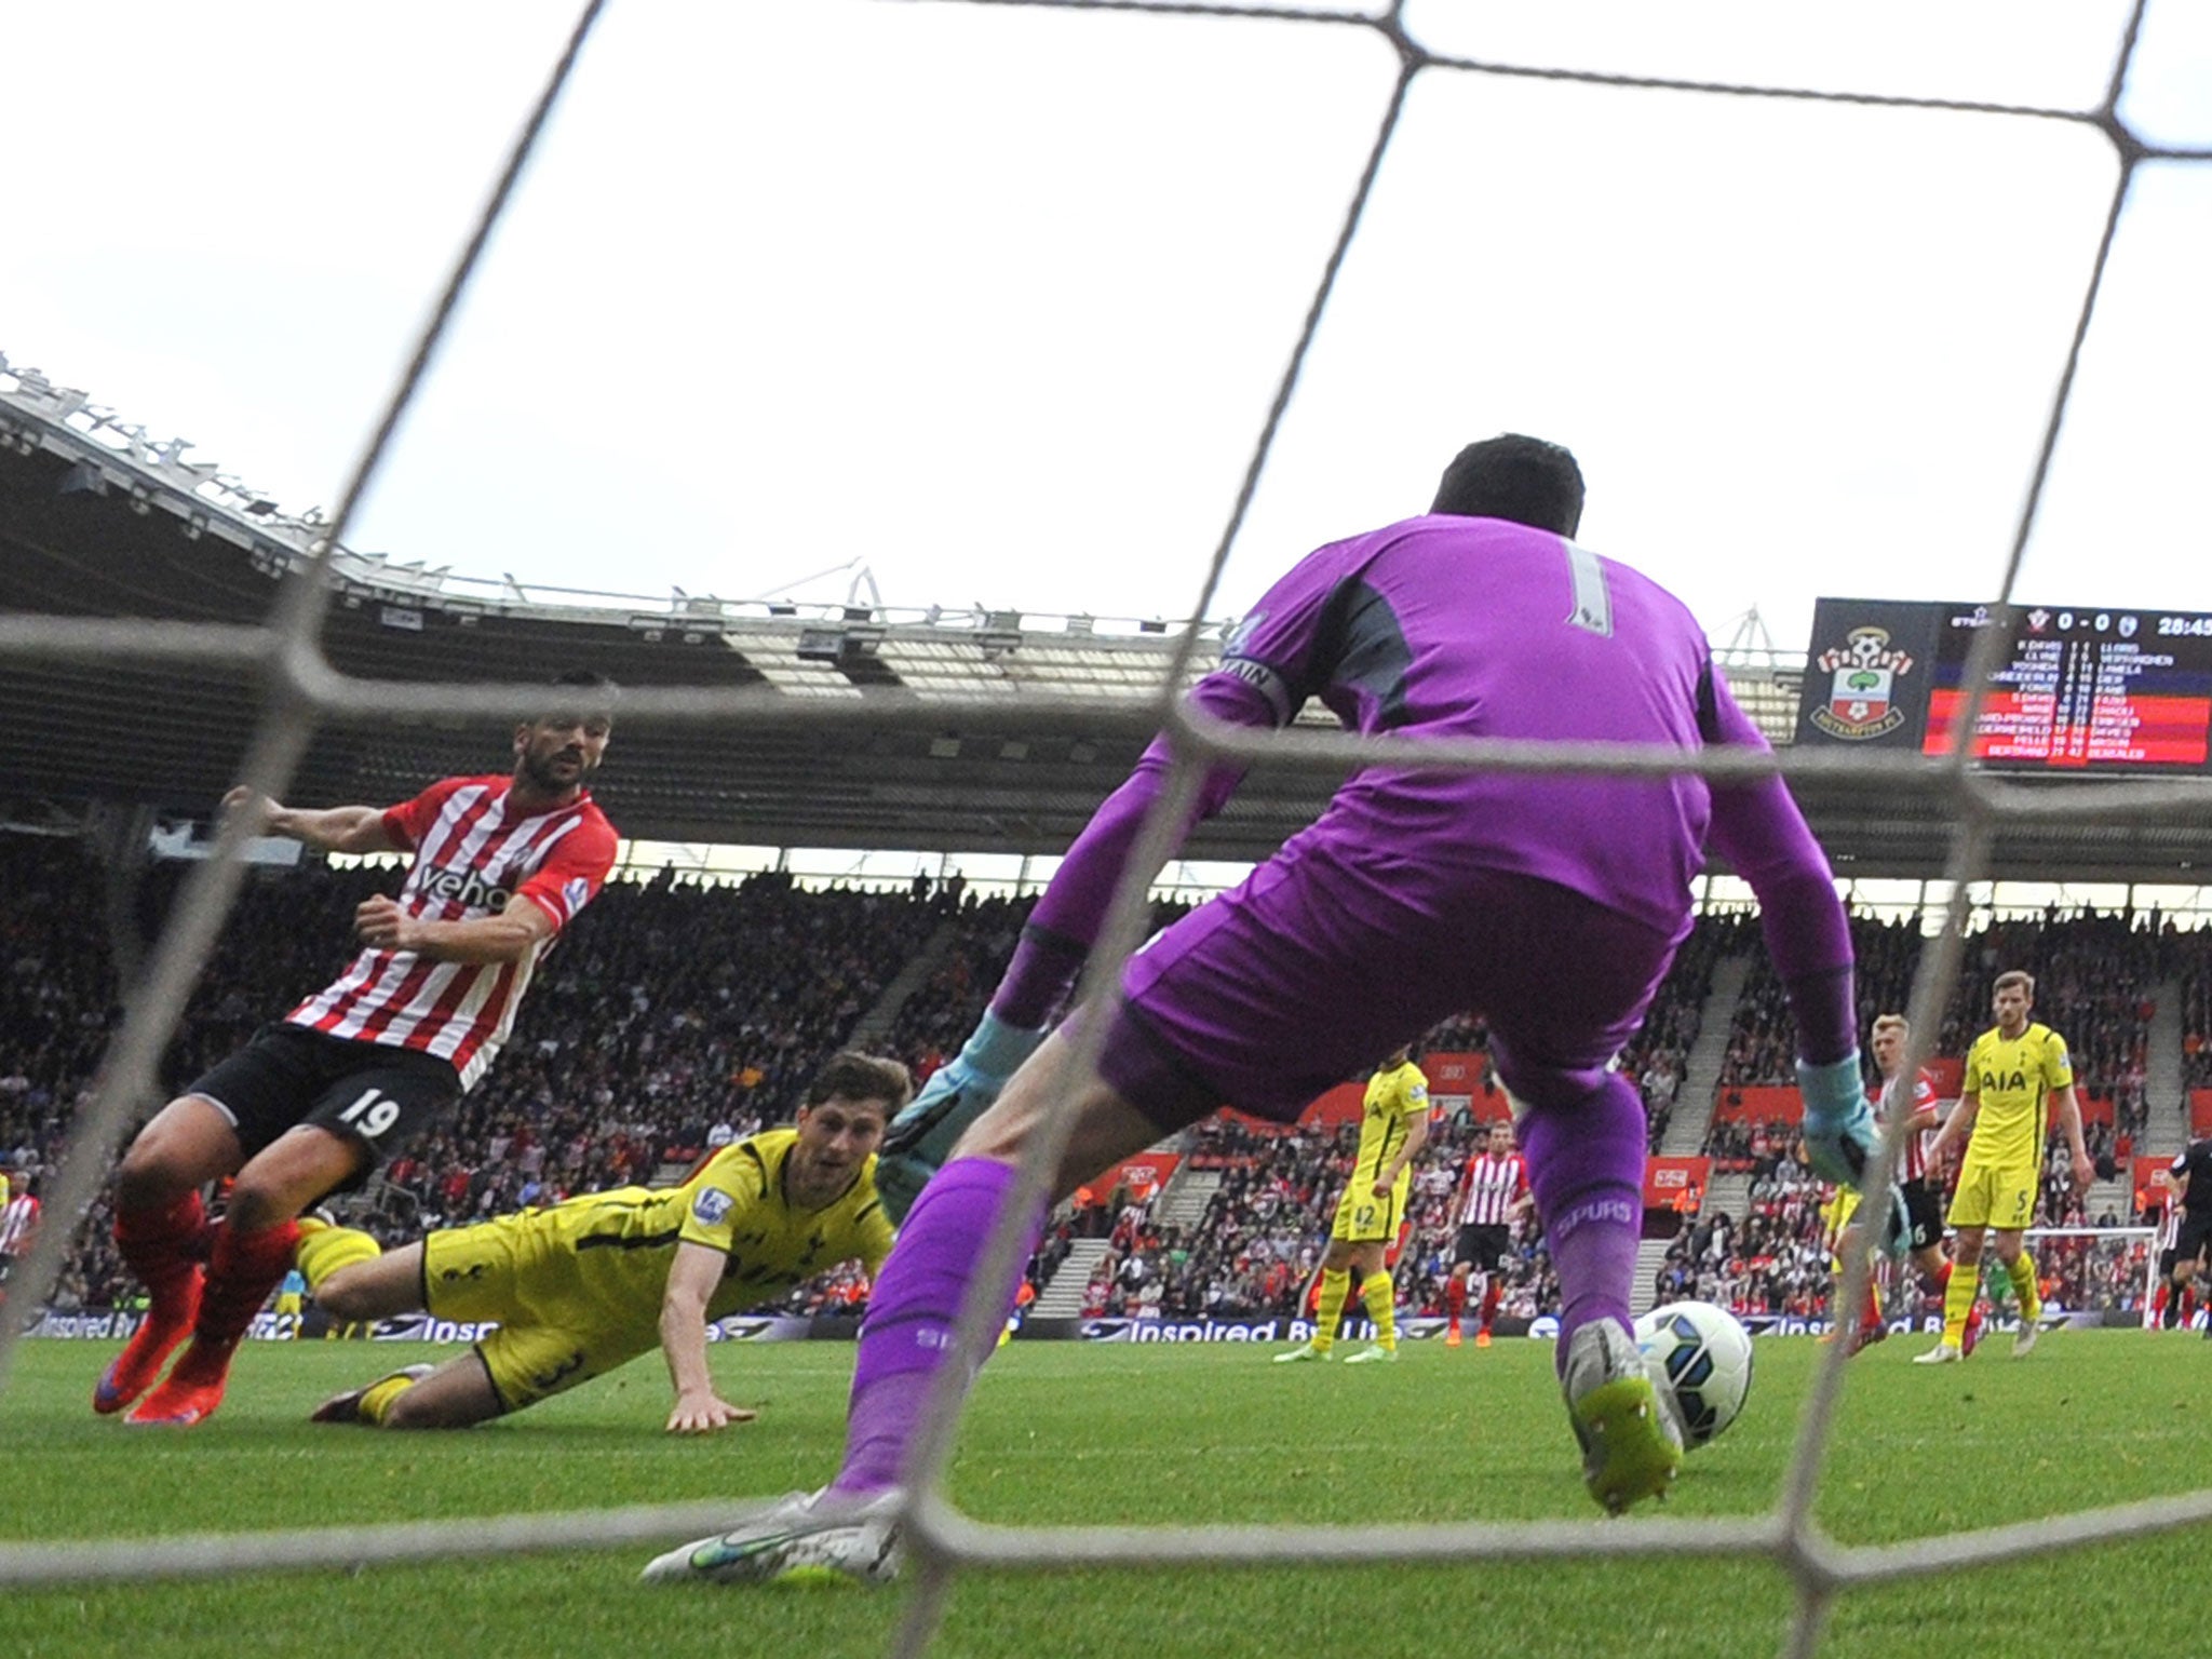
[[[2000,973],[1991,1006],[1997,1024],[1973,1040],[1966,1051],[1966,1075],[1958,1108],[1929,1146],[1929,1168],[1966,1141],[1966,1159],[1951,1194],[1949,1221],[1958,1228],[1951,1283],[1942,1298],[1942,1340],[1916,1365],[1951,1365],[1964,1358],[1966,1318],[1982,1281],[1982,1237],[1995,1232],[1997,1261],[2004,1263],[2020,1296],[2020,1334],[2013,1358],[2035,1347],[2044,1298],[2035,1287],[2035,1259],[2022,1250],[2020,1234],[2035,1217],[2035,1188],[2044,1168],[2044,1135],[2048,1106],[2059,1106],[2059,1128],[2073,1152],[2073,1181],[2084,1192],[2097,1179],[2088,1148],[2081,1144],[2081,1104],[2075,1099],[2073,1062],[2066,1040],[2046,1024],[2028,1020],[2035,1009],[2035,975]]]

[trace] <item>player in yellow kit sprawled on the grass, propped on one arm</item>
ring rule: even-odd
[[[790,1128],[714,1152],[681,1186],[586,1192],[383,1254],[352,1228],[316,1228],[299,1265],[332,1318],[498,1321],[473,1352],[352,1389],[316,1422],[460,1429],[588,1383],[655,1343],[668,1356],[668,1433],[712,1433],[754,1413],[714,1394],[706,1327],[858,1261],[891,1254],[876,1144],[911,1093],[896,1060],[843,1053],[807,1086]]]

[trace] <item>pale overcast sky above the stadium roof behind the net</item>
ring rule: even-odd
[[[1495,62],[2095,104],[2124,0],[1413,0]],[[0,352],[327,504],[571,27],[0,9]],[[666,595],[1181,617],[1396,60],[1369,29],[613,0],[354,546]],[[2212,144],[2212,7],[2124,113]],[[1221,595],[1464,440],[1725,639],[1993,593],[2117,177],[2093,128],[1425,71]],[[2022,584],[2212,608],[2212,166],[2137,179]]]

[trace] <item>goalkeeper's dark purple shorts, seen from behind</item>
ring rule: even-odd
[[[1458,1013],[1533,1106],[1573,1106],[1644,1020],[1672,933],[1495,869],[1303,845],[1137,951],[1099,1071],[1179,1128],[1217,1106],[1296,1121],[1345,1077]]]

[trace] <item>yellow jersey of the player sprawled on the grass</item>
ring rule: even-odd
[[[821,1210],[785,1197],[796,1128],[772,1128],[710,1157],[684,1186],[586,1192],[540,1212],[573,1263],[568,1294],[608,1314],[657,1321],[679,1243],[721,1250],[710,1321],[757,1307],[792,1285],[858,1261],[869,1276],[891,1254],[891,1219],[876,1199],[876,1159]]]

